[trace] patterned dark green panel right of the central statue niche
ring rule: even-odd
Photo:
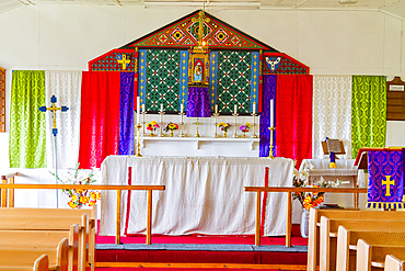
[[[251,112],[251,52],[218,52],[217,104],[220,113]]]

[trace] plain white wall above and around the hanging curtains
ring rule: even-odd
[[[0,14],[0,66],[7,69],[8,110],[12,70],[86,70],[89,60],[193,11],[48,4]],[[297,58],[311,68],[312,75],[385,75],[390,80],[394,76],[405,79],[404,22],[398,18],[375,11],[208,12]],[[9,111],[7,114],[9,126]],[[404,123],[389,122],[387,145],[405,146]],[[9,128],[0,133],[0,173],[10,172],[8,142]],[[246,156],[251,156],[248,151]],[[24,182],[53,182],[46,170],[23,172]],[[51,205],[51,196],[44,200],[35,195],[30,205]]]

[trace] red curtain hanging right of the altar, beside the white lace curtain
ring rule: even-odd
[[[312,158],[312,76],[277,76],[276,154],[297,160]]]

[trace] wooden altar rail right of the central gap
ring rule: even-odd
[[[256,228],[255,228],[255,246],[261,246],[261,193],[262,192],[279,192],[287,194],[287,222],[286,222],[286,247],[291,247],[291,229],[292,229],[292,193],[300,192],[326,192],[326,193],[367,193],[367,189],[356,188],[289,188],[289,187],[245,187],[245,192],[256,192]]]

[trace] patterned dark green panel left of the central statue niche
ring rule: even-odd
[[[150,49],[147,54],[147,111],[178,111],[181,52]]]

